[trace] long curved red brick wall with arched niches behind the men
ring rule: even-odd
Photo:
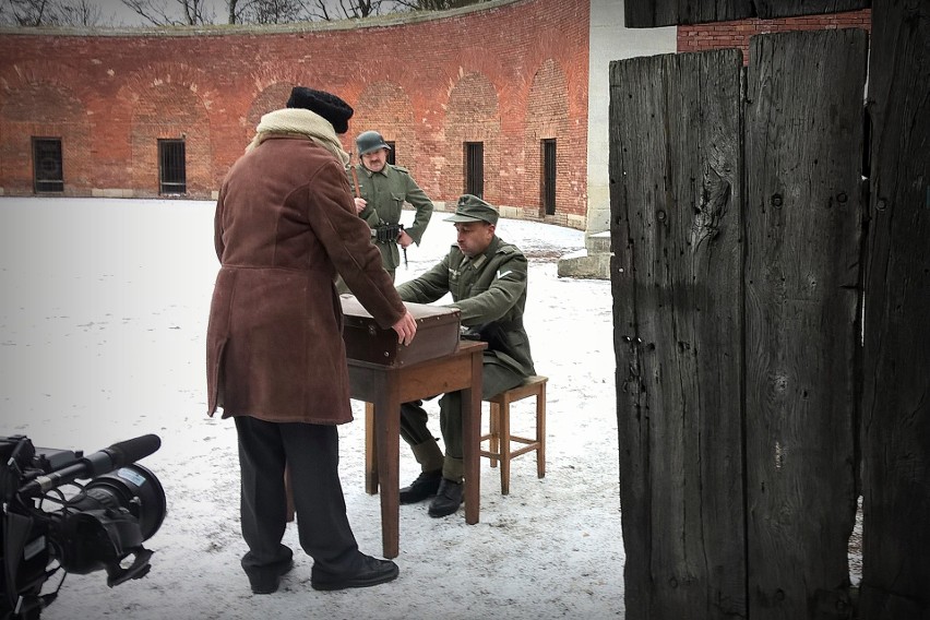
[[[539,141],[558,150],[557,214],[585,214],[588,3],[516,0],[432,19],[300,27],[0,33],[0,192],[32,193],[32,136],[62,139],[65,195],[158,193],[156,141],[186,140],[188,195],[211,198],[290,87],[356,108],[437,201],[485,143],[485,198],[542,218]]]

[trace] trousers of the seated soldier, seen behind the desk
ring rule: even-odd
[[[515,370],[496,362],[485,362],[481,373],[481,398],[487,401],[504,390],[523,383],[524,377]],[[449,392],[439,400],[439,428],[445,444],[445,457],[461,461],[462,449],[462,393]],[[432,441],[427,428],[429,416],[419,401],[401,405],[401,437],[410,445]]]

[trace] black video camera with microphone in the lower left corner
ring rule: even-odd
[[[160,445],[146,434],[84,456],[0,437],[0,620],[39,618],[68,573],[103,569],[110,587],[148,573],[152,551],[142,542],[162,526],[167,504],[158,479],[135,461]],[[61,581],[44,595],[58,571]]]

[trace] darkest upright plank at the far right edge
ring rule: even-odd
[[[861,618],[930,618],[930,2],[875,2]]]

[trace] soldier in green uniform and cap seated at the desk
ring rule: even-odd
[[[497,210],[472,194],[458,199],[455,215],[446,217],[456,230],[456,245],[442,261],[421,276],[397,287],[404,301],[430,303],[452,294],[452,308],[462,317],[463,337],[488,343],[484,355],[481,397],[490,398],[520,385],[536,373],[529,339],[523,329],[526,306],[526,257],[496,234]],[[401,407],[401,437],[420,464],[419,477],[401,489],[401,503],[434,497],[430,516],[454,513],[462,504],[464,477],[461,393],[439,401],[440,430],[445,454],[427,428],[421,403]]]

